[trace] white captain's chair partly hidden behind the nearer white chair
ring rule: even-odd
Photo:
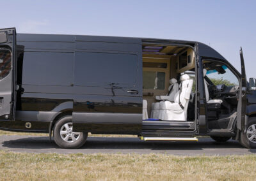
[[[166,94],[166,96],[156,96],[156,99],[158,101],[172,101],[174,102],[174,96],[176,94],[176,92],[179,91],[179,83],[177,83],[177,79],[176,78],[171,78],[169,80],[170,86],[168,87],[168,94]],[[150,117],[152,119],[159,119],[159,112],[160,112],[160,103],[152,103],[151,106],[151,115]]]

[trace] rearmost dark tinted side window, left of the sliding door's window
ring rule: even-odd
[[[22,84],[70,85],[74,54],[60,52],[24,52]]]

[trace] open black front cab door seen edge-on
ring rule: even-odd
[[[244,68],[244,56],[243,50],[241,47],[240,50],[240,59],[241,59],[241,79],[239,83],[239,101],[237,106],[237,129],[240,131],[244,130],[246,125],[246,74]]]

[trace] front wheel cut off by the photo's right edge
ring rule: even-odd
[[[246,133],[240,133],[239,142],[243,147],[256,148],[256,117],[248,120]]]

